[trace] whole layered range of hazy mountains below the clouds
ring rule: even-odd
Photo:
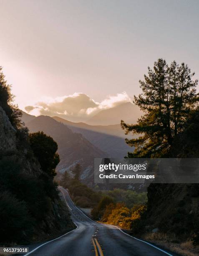
[[[127,102],[115,108],[102,110],[91,118],[90,122],[94,125],[82,122],[73,123],[56,116],[53,118],[44,115],[35,117],[25,112],[23,112],[22,120],[30,132],[43,131],[58,143],[60,154],[58,173],[69,171],[74,164],[79,162],[83,169],[81,179],[92,186],[94,158],[123,158],[128,151],[134,150],[125,142],[127,136],[121,129],[120,121],[123,119],[129,123],[136,123],[140,116],[141,110],[131,102]]]

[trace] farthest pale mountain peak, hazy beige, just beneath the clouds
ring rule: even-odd
[[[126,123],[136,123],[142,115],[140,108],[131,102],[123,103],[114,108],[102,110],[86,121],[89,125],[114,125],[121,120]]]

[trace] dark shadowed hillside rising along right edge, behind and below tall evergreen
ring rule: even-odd
[[[199,111],[193,111],[183,133],[174,141],[166,158],[199,158]],[[187,161],[187,160],[186,160]],[[191,172],[191,163],[187,172]],[[195,182],[199,182],[195,180]],[[199,245],[199,184],[150,184],[148,206],[142,222],[145,232],[158,228],[176,241]]]

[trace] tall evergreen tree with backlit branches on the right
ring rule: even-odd
[[[168,152],[199,101],[198,80],[193,80],[193,76],[186,64],[179,65],[176,61],[169,66],[165,60],[158,59],[153,69],[148,67],[148,75],[139,81],[143,93],[134,96],[134,103],[144,115],[137,124],[129,125],[121,120],[126,134],[139,134],[139,138],[126,139],[129,146],[135,147],[128,157],[160,157]]]

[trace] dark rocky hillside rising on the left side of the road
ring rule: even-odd
[[[45,191],[43,171],[26,136],[25,128],[13,128],[0,107],[0,241],[4,245],[49,239],[74,227],[57,194]]]

